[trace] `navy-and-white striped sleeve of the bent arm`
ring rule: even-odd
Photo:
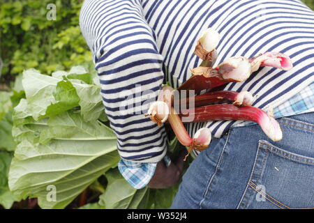
[[[166,133],[145,117],[164,74],[154,31],[138,0],[86,0],[80,27],[94,55],[101,96],[121,158],[154,163],[166,153]]]

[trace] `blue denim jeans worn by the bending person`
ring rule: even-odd
[[[314,208],[314,113],[277,121],[281,141],[258,125],[214,139],[184,174],[172,208]]]

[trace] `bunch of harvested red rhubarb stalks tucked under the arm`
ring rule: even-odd
[[[264,133],[272,140],[282,139],[280,125],[272,112],[251,106],[254,97],[247,91],[213,91],[218,86],[230,82],[244,82],[262,66],[270,66],[281,70],[290,70],[292,61],[289,56],[277,52],[266,52],[251,59],[244,56],[232,57],[213,67],[217,59],[216,47],[219,34],[214,29],[207,29],[195,47],[195,54],[202,59],[197,68],[192,69],[192,77],[179,86],[174,93],[170,86],[164,86],[147,116],[160,125],[170,123],[180,143],[188,148],[202,151],[209,146],[211,132],[207,128],[198,130],[191,138],[184,123],[205,121],[242,120],[258,123]],[[182,91],[193,91],[193,96],[183,98]],[[198,95],[202,90],[207,93]],[[179,95],[177,98],[174,95]],[[191,106],[191,102],[193,106]],[[183,108],[183,109],[182,109]],[[193,117],[193,118],[188,118]]]

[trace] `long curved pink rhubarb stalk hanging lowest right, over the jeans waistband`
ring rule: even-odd
[[[221,121],[221,120],[244,120],[258,123],[267,136],[273,141],[283,138],[281,127],[275,118],[266,112],[252,106],[237,107],[234,105],[208,105],[187,109],[180,116],[194,116],[193,122]]]

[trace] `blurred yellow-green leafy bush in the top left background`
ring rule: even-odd
[[[82,0],[57,0],[57,20],[47,20],[50,0],[0,0],[0,57],[2,80],[14,79],[27,68],[51,74],[91,63],[80,33]]]

